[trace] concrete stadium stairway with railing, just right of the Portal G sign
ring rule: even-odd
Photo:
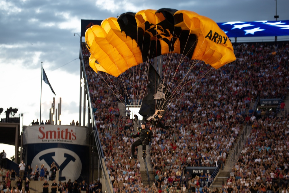
[[[241,151],[242,151],[242,149],[243,149],[243,147],[247,141],[247,137],[251,133],[251,130],[252,130],[252,127],[249,125],[249,127],[247,128],[247,131],[245,130],[245,126],[240,131],[240,133],[239,133],[240,135],[237,137],[236,142],[234,143],[234,146],[230,149],[230,151],[228,153],[224,169],[220,170],[218,172],[218,174],[214,178],[213,183],[210,186],[211,190],[213,188],[221,188],[223,184],[227,183],[227,179],[230,176],[230,172],[231,172],[233,166],[235,165],[235,163],[237,162],[239,155],[241,154]],[[244,135],[244,138],[242,138],[242,134]],[[235,148],[238,148],[237,152],[234,151]],[[231,156],[234,153],[235,153],[235,157],[234,157],[235,159],[231,160]]]

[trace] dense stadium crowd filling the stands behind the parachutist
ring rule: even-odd
[[[189,89],[192,85],[185,85],[180,93],[182,97],[169,106],[164,117],[164,120],[173,128],[155,129],[155,137],[149,152],[155,182],[151,187],[143,187],[140,163],[138,160],[129,159],[131,143],[134,141],[129,135],[134,124],[131,119],[120,116],[118,109],[118,99],[123,99],[121,96],[125,95],[125,91],[119,89],[122,85],[117,79],[111,79],[114,85],[112,86],[108,78],[104,76],[102,78],[89,67],[90,54],[83,45],[90,97],[94,105],[93,111],[97,128],[99,128],[99,138],[114,192],[171,193],[192,187],[196,192],[208,193],[206,181],[210,180],[209,176],[198,176],[192,179],[193,182],[188,183],[189,187],[186,188],[181,187],[181,184],[177,186],[173,184],[182,180],[181,175],[186,166],[217,166],[221,163],[221,167],[224,167],[230,148],[234,146],[244,122],[249,120],[246,119],[249,116],[246,112],[251,102],[255,102],[257,96],[281,98],[287,95],[288,47],[288,44],[279,46],[263,43],[239,44],[235,48],[236,61],[221,69],[210,70],[210,66],[201,62],[197,63],[190,78],[198,81],[193,83],[192,89]],[[174,67],[181,59],[182,65],[178,67],[180,73],[177,73],[178,76],[173,82],[181,80],[184,74],[182,72],[192,65],[192,61],[181,58],[179,55],[173,58],[169,56],[163,58],[164,72],[174,71]],[[167,62],[170,63],[170,67],[167,67]],[[164,76],[168,78],[166,76],[170,76],[169,73]],[[109,78],[112,77],[109,76]],[[107,82],[110,88],[106,85]],[[140,85],[134,85],[134,87],[138,86]],[[172,86],[175,85],[172,84]],[[120,93],[116,90],[120,90]],[[229,179],[232,183],[227,183],[222,189],[218,191],[214,189],[214,191],[243,193],[250,190],[252,193],[257,193],[250,188],[243,187],[241,182],[246,179],[246,182],[250,184],[248,187],[251,187],[254,181],[259,185],[257,179],[260,177],[259,181],[267,186],[270,183],[266,183],[266,178],[263,181],[264,176],[272,178],[273,174],[270,173],[274,173],[275,170],[279,173],[275,172],[274,176],[279,176],[280,173],[284,177],[287,175],[288,117],[277,119],[264,116],[249,123],[254,129],[250,134],[248,144],[242,151],[242,156],[232,169]],[[268,141],[271,142],[268,143]],[[278,141],[279,144],[274,141]],[[268,151],[269,148],[271,150]],[[256,159],[262,159],[264,163],[255,162]],[[281,166],[286,169],[280,170]],[[288,186],[286,181],[283,184]]]

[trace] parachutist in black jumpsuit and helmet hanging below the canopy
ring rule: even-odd
[[[153,132],[151,131],[151,127],[147,128],[145,123],[142,123],[144,125],[144,129],[138,127],[138,134],[131,135],[132,138],[139,137],[138,140],[136,140],[133,144],[131,144],[131,159],[137,158],[134,155],[134,151],[136,149],[136,146],[142,145],[142,159],[146,156],[146,149],[147,145],[149,144],[149,141],[153,138]]]

